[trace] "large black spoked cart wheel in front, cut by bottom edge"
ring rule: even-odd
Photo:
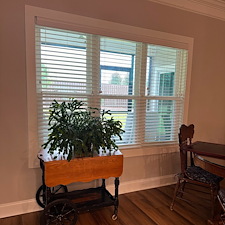
[[[41,215],[41,225],[75,225],[77,219],[74,204],[68,199],[57,199],[45,207]]]

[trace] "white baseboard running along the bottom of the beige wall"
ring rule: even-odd
[[[119,186],[119,193],[124,194],[133,191],[166,186],[173,183],[175,183],[175,175],[173,174],[161,177],[121,182]],[[114,185],[108,185],[107,189],[110,191],[110,193],[114,194]],[[38,206],[35,199],[0,204],[0,218],[31,213],[40,210],[42,210],[42,208]]]

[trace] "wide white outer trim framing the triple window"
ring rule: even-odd
[[[35,101],[35,23],[41,23],[42,25],[48,25],[56,28],[65,28],[80,32],[89,32],[116,38],[187,49],[188,67],[183,115],[183,122],[187,123],[194,43],[193,38],[26,5],[25,35],[28,109],[28,159],[30,168],[35,168],[39,165],[36,155],[37,149],[40,148],[40,146],[38,146],[37,106]],[[164,154],[178,151],[177,147],[174,145],[169,145],[167,148],[161,145],[157,147],[137,147],[129,149],[121,148],[121,150],[124,152],[125,157],[151,155],[156,153]]]

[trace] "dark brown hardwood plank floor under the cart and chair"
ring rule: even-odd
[[[187,184],[187,188],[191,188]],[[119,196],[118,219],[113,221],[112,207],[80,214],[76,225],[205,225],[210,217],[210,196],[188,189],[186,198],[176,200],[174,211],[169,206],[174,185],[127,193]],[[41,212],[0,219],[0,225],[40,225]]]

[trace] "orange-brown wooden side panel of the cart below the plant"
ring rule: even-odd
[[[48,187],[73,182],[89,182],[95,179],[120,177],[123,172],[123,155],[105,155],[43,162],[44,181]]]

